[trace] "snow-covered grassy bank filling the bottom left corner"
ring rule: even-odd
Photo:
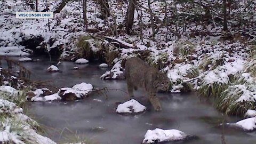
[[[3,92],[9,97],[20,97],[18,90],[11,86],[1,86],[0,95],[0,143],[39,143],[55,144],[34,129],[38,124],[23,114],[23,109],[15,103],[4,100]]]

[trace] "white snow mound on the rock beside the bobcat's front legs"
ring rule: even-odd
[[[140,113],[146,110],[146,107],[141,105],[137,100],[129,100],[119,104],[116,113]]]

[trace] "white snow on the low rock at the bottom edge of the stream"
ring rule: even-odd
[[[148,130],[144,136],[142,143],[155,143],[165,141],[179,141],[186,139],[188,134],[179,130],[162,130],[156,128],[155,130]]]

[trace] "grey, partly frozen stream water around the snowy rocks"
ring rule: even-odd
[[[55,62],[57,63],[57,62]],[[81,82],[91,83],[95,87],[108,87],[126,91],[125,81],[102,81],[100,76],[107,69],[98,67],[98,63],[75,65],[74,62],[62,62],[61,73],[48,73],[49,62],[39,58],[38,62],[23,63],[33,72],[34,80],[51,80],[58,87],[73,86]],[[81,67],[72,70],[74,66]],[[94,143],[131,144],[141,143],[149,129],[178,129],[187,134],[197,135],[198,139],[173,143],[222,143],[225,133],[226,143],[255,143],[255,133],[245,133],[236,129],[222,129],[221,113],[209,102],[200,100],[196,94],[158,93],[163,111],[155,112],[145,98],[145,92],[135,92],[135,99],[148,107],[145,113],[138,115],[119,115],[115,113],[118,102],[129,100],[122,91],[109,90],[108,99],[104,95],[94,94],[79,101],[66,102],[28,102],[28,109],[37,121],[45,125],[47,137],[56,142],[76,140],[74,135],[84,137]],[[241,118],[226,117],[228,122]],[[172,143],[172,142],[169,142]]]

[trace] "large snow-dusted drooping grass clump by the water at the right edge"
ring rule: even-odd
[[[227,115],[244,115],[248,109],[256,108],[256,87],[238,84],[228,86],[217,101],[217,108]]]

